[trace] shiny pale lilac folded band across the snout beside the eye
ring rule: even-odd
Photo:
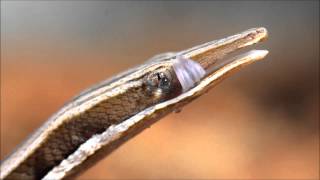
[[[194,87],[206,74],[205,69],[199,63],[180,55],[174,59],[173,69],[183,92]]]

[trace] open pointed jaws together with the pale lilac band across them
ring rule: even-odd
[[[251,50],[233,57],[230,57],[230,54],[256,44],[267,36],[265,28],[253,28],[178,53],[174,59],[173,68],[183,92],[195,87],[203,78],[234,61],[248,59],[253,61],[264,58],[268,54],[267,50]]]

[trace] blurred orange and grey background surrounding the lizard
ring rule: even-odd
[[[318,179],[319,1],[1,1],[1,159],[89,86],[259,26],[264,61],[79,179]]]

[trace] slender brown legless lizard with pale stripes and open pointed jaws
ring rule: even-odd
[[[252,28],[176,53],[157,55],[82,92],[66,103],[1,163],[1,179],[74,177],[129,138],[201,96],[231,72],[263,59],[251,50],[217,61],[266,39]]]

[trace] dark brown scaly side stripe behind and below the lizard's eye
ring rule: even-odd
[[[143,83],[139,87],[133,87],[123,94],[98,103],[85,113],[72,117],[55,130],[59,133],[51,133],[42,147],[7,178],[41,179],[92,135],[100,134],[110,125],[120,123],[151,105],[181,93],[181,87],[176,80],[173,84],[175,86],[171,88],[173,91],[154,96]]]

